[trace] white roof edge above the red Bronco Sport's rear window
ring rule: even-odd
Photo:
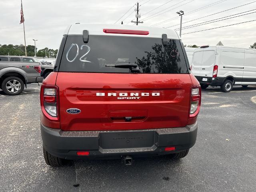
[[[123,29],[123,30],[144,30],[149,31],[148,35],[131,35],[131,34],[111,34],[104,33],[103,29]],[[83,30],[88,30],[89,35],[111,35],[111,36],[138,36],[138,37],[155,37],[162,38],[162,34],[167,34],[169,39],[180,39],[175,30],[165,28],[155,28],[136,25],[114,25],[114,24],[72,24],[65,30],[64,35],[81,35]]]

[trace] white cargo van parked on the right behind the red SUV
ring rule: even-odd
[[[233,85],[256,85],[256,49],[201,46],[194,51],[192,74],[203,89],[212,85],[230,92]]]

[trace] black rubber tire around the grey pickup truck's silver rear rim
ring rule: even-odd
[[[10,82],[10,83],[13,83],[14,84],[14,80],[16,80],[15,81],[15,84],[17,85],[17,84],[20,84],[20,86],[17,86],[16,88],[20,88],[17,92],[10,92],[9,90],[8,90],[8,88],[6,87],[6,84],[7,84],[7,82]],[[10,84],[9,84],[10,85]],[[18,77],[16,77],[16,76],[10,76],[10,77],[6,77],[4,80],[3,80],[3,82],[2,82],[2,85],[1,85],[1,89],[4,91],[4,93],[5,94],[7,94],[7,95],[19,95],[23,90],[24,90],[24,82],[20,79],[20,78],[18,78]],[[12,91],[12,90],[11,90]],[[16,91],[15,89],[14,89],[14,91]]]

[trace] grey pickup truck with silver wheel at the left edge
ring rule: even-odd
[[[18,95],[29,83],[40,83],[40,63],[32,57],[0,56],[0,89],[8,95]]]

